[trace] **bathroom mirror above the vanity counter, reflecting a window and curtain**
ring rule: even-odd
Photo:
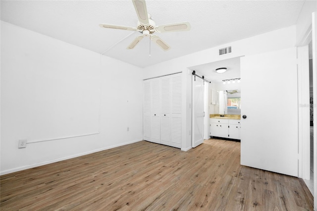
[[[241,115],[241,91],[219,91],[219,113]]]

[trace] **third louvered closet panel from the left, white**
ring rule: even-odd
[[[170,76],[160,77],[160,143],[170,146],[170,104],[171,104],[171,78]]]

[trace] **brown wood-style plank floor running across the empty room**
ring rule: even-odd
[[[146,141],[0,177],[0,210],[303,211],[301,179],[241,166],[240,143]]]

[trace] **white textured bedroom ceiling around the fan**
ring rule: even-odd
[[[143,39],[134,50],[126,50],[139,32],[130,35],[131,31],[99,27],[99,23],[136,27],[138,19],[131,0],[1,0],[0,3],[3,21],[97,53],[104,53],[117,43],[104,54],[146,67],[294,25],[304,1],[147,0],[148,12],[157,25],[182,21],[191,24],[190,31],[156,33],[171,47],[167,52],[154,44],[150,48],[148,39]]]

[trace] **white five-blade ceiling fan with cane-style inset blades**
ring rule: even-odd
[[[136,28],[104,23],[99,24],[99,26],[103,28],[139,31],[142,35],[138,36],[132,41],[132,43],[127,47],[127,49],[129,50],[134,49],[144,37],[150,37],[150,39],[154,43],[156,43],[163,51],[168,51],[170,47],[164,41],[162,41],[159,36],[154,35],[154,33],[189,31],[191,28],[189,22],[171,23],[157,26],[152,20],[151,14],[149,14],[147,11],[145,0],[132,0],[132,2],[139,18]]]

